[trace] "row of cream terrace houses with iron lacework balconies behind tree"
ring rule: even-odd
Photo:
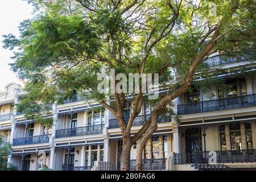
[[[231,69],[239,73],[239,66],[245,63],[214,57],[208,64],[210,70],[221,66],[226,71],[220,79],[228,89],[212,86],[177,97],[173,109],[179,121],[168,115],[159,117],[158,129],[144,148],[144,170],[256,169],[256,81],[229,75]],[[255,64],[247,63],[247,67],[253,69]],[[159,88],[159,94],[164,93]],[[88,104],[76,94],[63,105],[52,106],[51,114],[44,117],[57,122],[47,128],[16,112],[15,104],[25,94],[15,83],[0,92],[0,134],[13,146],[6,159],[9,163],[22,171],[44,167],[67,171],[119,169],[121,130],[109,110],[97,102]],[[131,100],[125,110],[126,120],[132,105]],[[143,104],[131,135],[144,125],[153,107]],[[137,144],[131,147],[131,170],[135,169]]]

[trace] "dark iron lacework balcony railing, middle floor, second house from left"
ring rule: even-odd
[[[93,126],[84,126],[84,127],[75,127],[72,129],[56,130],[55,138],[101,134],[103,128],[104,128],[104,124],[93,125]]]

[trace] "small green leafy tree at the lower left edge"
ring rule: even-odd
[[[5,142],[3,135],[0,135],[0,171],[7,170],[7,158],[11,154],[10,142]]]

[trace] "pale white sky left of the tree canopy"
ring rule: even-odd
[[[0,6],[0,90],[5,90],[5,86],[10,82],[22,84],[16,74],[10,70],[8,63],[13,63],[10,59],[13,52],[4,49],[2,46],[2,35],[13,34],[19,36],[18,26],[24,19],[32,18],[32,5],[28,5],[23,0],[1,1]]]

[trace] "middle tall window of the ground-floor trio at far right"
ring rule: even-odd
[[[230,130],[231,150],[241,150],[242,141],[241,141],[240,123],[230,124],[229,130]]]

